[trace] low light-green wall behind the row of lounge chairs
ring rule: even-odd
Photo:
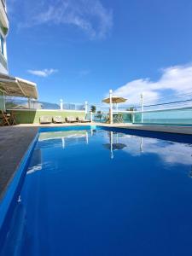
[[[62,118],[66,118],[67,116],[77,117],[85,117],[84,112],[70,111],[67,110],[55,110],[55,111],[43,111],[43,110],[14,110],[15,119],[17,124],[39,124],[39,118],[43,115],[49,115],[51,117],[60,115]]]

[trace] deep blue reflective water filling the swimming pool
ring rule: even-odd
[[[157,137],[40,133],[0,255],[192,255],[191,140]]]

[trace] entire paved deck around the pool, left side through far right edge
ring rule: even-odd
[[[61,124],[61,125],[15,125],[0,127],[0,200],[9,186],[12,177],[15,175],[20,160],[26,153],[32,139],[38,132],[38,127],[54,126],[73,126],[73,125],[90,125],[89,124]],[[93,123],[92,125],[102,125],[107,127],[121,127],[124,129],[141,130],[141,131],[160,131],[177,134],[192,135],[192,127],[166,126],[166,125],[125,125],[125,124],[101,124]]]

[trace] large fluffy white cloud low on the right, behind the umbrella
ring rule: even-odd
[[[143,93],[148,102],[157,102],[165,96],[166,92],[172,95],[192,90],[192,64],[184,66],[167,67],[161,70],[158,81],[150,79],[137,79],[113,91],[114,95],[124,96],[130,104],[138,104]]]

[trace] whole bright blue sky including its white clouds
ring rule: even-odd
[[[8,0],[9,73],[45,102],[192,92],[191,0]]]

